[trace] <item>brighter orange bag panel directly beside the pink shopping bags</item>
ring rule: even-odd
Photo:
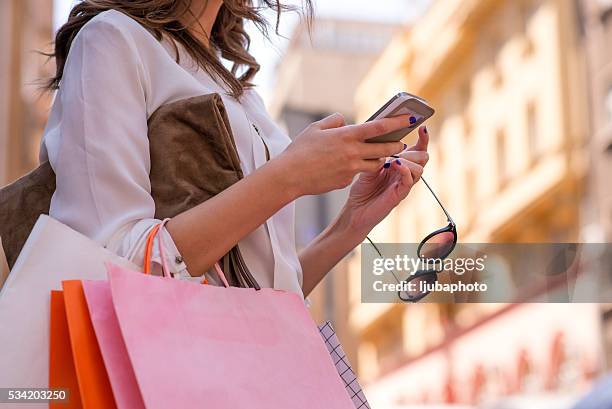
[[[72,356],[83,407],[116,408],[98,341],[94,332],[83,284],[78,280],[62,282],[66,319]]]

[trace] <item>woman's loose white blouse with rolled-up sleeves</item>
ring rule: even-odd
[[[147,137],[147,120],[157,108],[219,93],[245,175],[266,162],[262,139],[271,157],[290,143],[255,90],[236,100],[178,47],[180,63],[169,40],[158,42],[123,13],[109,10],[94,17],[72,43],[41,146],[41,161],[48,159],[57,175],[50,215],[138,265],[147,233],[159,223]],[[189,277],[172,238],[165,230],[163,235],[171,271]],[[263,287],[302,294],[293,203],[239,245]],[[154,257],[159,269],[157,249]]]

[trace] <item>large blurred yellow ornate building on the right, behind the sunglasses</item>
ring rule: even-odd
[[[462,242],[584,235],[587,171],[601,159],[589,155],[579,32],[571,0],[439,0],[360,85],[357,120],[399,90],[435,107],[425,176]],[[419,184],[373,238],[418,243],[445,225]],[[601,370],[596,305],[363,304],[359,256],[346,262],[349,298],[337,302],[349,305],[373,407],[571,399]]]

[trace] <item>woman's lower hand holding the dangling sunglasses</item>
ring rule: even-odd
[[[352,229],[367,234],[406,198],[429,160],[428,143],[427,128],[422,126],[417,143],[400,153],[399,159],[359,175],[344,208]]]

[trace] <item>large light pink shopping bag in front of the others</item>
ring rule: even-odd
[[[297,294],[108,276],[145,407],[354,407]]]

